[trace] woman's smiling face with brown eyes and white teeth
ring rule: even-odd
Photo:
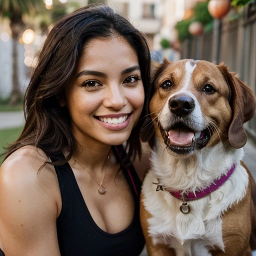
[[[91,40],[61,101],[69,110],[78,142],[123,143],[144,102],[136,53],[122,37]]]

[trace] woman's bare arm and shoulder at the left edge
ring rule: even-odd
[[[59,256],[56,234],[60,197],[45,156],[20,148],[0,166],[0,237],[5,256]],[[60,199],[61,200],[61,199]]]

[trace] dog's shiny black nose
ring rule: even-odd
[[[194,109],[194,100],[186,94],[177,94],[169,99],[169,109],[178,116],[189,114]]]

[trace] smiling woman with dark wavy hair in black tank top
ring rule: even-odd
[[[55,24],[25,94],[23,131],[0,167],[6,256],[141,252],[129,159],[141,154],[149,66],[144,37],[108,6]],[[141,177],[146,164],[137,166]]]

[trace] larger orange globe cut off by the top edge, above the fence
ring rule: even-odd
[[[208,11],[214,18],[222,18],[230,9],[230,0],[209,0]]]

